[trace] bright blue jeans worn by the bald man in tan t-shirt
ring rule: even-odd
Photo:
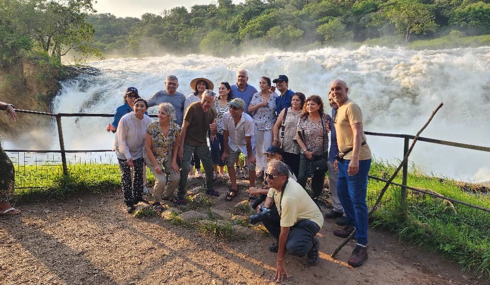
[[[341,200],[344,213],[353,222],[351,226],[356,228],[356,239],[359,245],[365,246],[367,243],[367,175],[371,167],[371,159],[359,160],[359,172],[354,176],[349,176],[350,160],[338,162],[337,194]]]

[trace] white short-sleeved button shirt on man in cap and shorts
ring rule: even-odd
[[[247,142],[245,137],[251,137],[252,149],[255,148],[255,138],[253,136],[253,119],[243,112],[240,121],[235,127],[235,119],[230,111],[223,114],[223,130],[228,131],[228,148],[234,151],[241,151],[244,155],[247,153]]]

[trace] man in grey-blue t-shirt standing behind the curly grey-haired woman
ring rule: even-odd
[[[175,75],[168,75],[167,80],[165,80],[165,91],[160,90],[159,92],[152,95],[152,97],[146,99],[148,103],[148,108],[153,106],[158,106],[163,102],[168,102],[172,104],[175,108],[175,123],[182,126],[182,121],[184,117],[184,103],[185,95],[177,92],[179,87],[179,80]]]

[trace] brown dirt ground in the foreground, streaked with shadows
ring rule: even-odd
[[[194,185],[202,180],[193,179]],[[193,181],[191,181],[193,184]],[[218,188],[220,193],[225,188]],[[239,198],[246,199],[241,191]],[[235,204],[211,197],[212,207]],[[63,200],[18,205],[19,216],[0,218],[0,284],[267,284],[274,283],[271,237],[220,240],[173,225],[160,216],[136,218],[124,211],[121,191],[78,194]],[[369,230],[369,259],[347,265],[354,241],[333,260],[343,239],[325,219],[318,233],[320,262],[287,256],[285,284],[483,284],[453,262],[424,252],[388,232]]]

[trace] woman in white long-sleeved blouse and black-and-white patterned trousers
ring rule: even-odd
[[[134,205],[143,199],[143,151],[146,137],[146,127],[152,123],[152,118],[145,115],[148,105],[139,98],[134,103],[134,111],[124,115],[119,121],[116,131],[114,149],[118,156],[121,170],[121,187],[124,192],[124,202],[128,213],[134,211]],[[133,181],[131,170],[134,168]]]

